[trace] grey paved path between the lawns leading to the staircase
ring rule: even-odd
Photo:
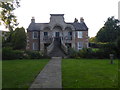
[[[62,88],[61,57],[52,57],[39,73],[31,88]]]

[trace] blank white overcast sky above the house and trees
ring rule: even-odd
[[[74,18],[80,21],[80,17],[83,17],[89,28],[89,36],[93,37],[108,17],[118,18],[118,1],[120,0],[21,0],[21,7],[15,10],[15,15],[19,26],[25,29],[32,16],[38,23],[49,22],[50,14],[65,14],[65,22],[73,22]]]

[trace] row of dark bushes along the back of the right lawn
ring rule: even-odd
[[[83,48],[79,51],[74,49],[69,50],[70,58],[97,58],[104,59],[109,58],[109,54],[113,53],[113,51],[108,51],[108,49],[94,49],[94,48]],[[115,55],[115,53],[113,53]]]

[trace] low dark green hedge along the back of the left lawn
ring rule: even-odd
[[[22,51],[13,50],[11,47],[4,47],[2,49],[3,60],[14,60],[14,59],[41,59],[50,58],[47,55],[39,51]]]

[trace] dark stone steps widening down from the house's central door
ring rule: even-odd
[[[55,38],[54,40],[54,46],[51,52],[48,54],[50,57],[65,57],[66,54],[61,48],[61,39]]]

